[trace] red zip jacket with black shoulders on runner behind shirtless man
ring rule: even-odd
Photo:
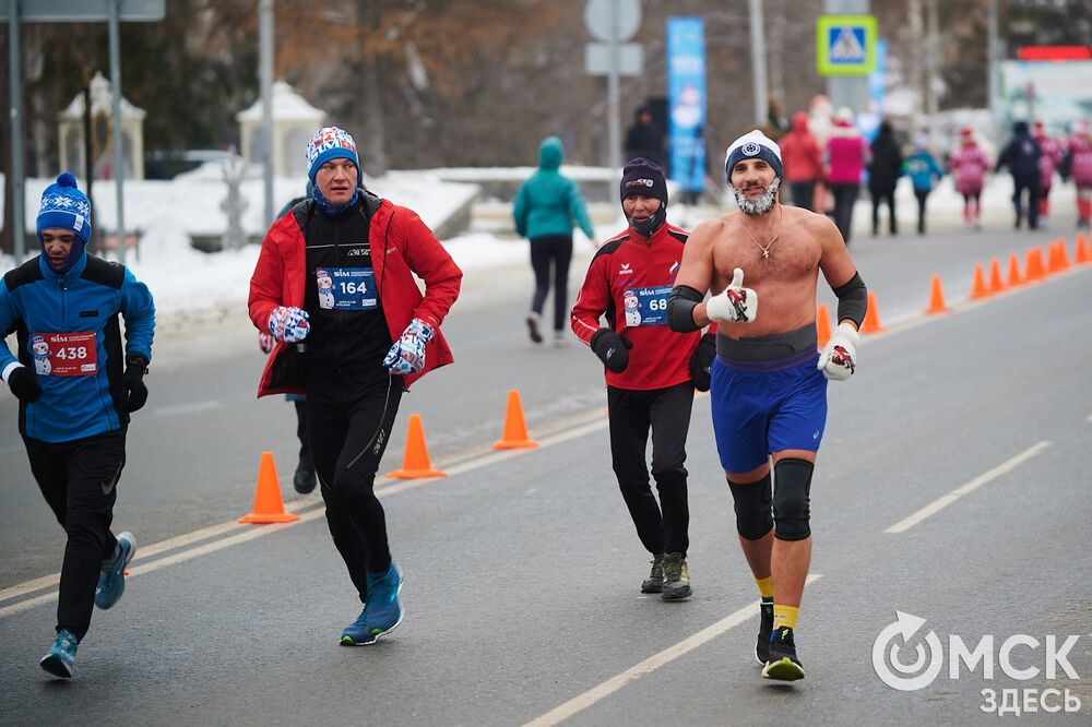
[[[572,332],[591,345],[603,317],[633,344],[625,371],[605,370],[607,385],[650,390],[690,380],[690,358],[701,332],[676,333],[667,326],[667,296],[689,235],[664,224],[645,238],[631,227],[604,242],[592,258],[572,307]]]

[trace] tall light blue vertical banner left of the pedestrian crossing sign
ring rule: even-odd
[[[705,32],[700,17],[667,20],[670,178],[684,191],[705,188]]]

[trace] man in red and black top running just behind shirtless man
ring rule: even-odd
[[[686,436],[693,390],[709,390],[714,336],[667,326],[667,297],[689,234],[666,222],[667,183],[658,166],[642,157],[626,165],[621,206],[629,229],[592,259],[572,307],[572,332],[606,367],[610,457],[638,537],[653,557],[641,591],[677,600],[690,595]],[[658,503],[644,460],[650,427]]]

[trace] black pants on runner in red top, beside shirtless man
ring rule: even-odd
[[[693,385],[689,381],[651,391],[607,386],[612,464],[637,536],[654,556],[680,552],[685,558],[690,546],[684,463],[692,405]],[[645,464],[650,428],[658,504],[649,486]]]

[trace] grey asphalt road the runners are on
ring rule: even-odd
[[[530,272],[513,269],[467,276],[444,325],[456,364],[403,400],[385,469],[418,413],[451,476],[379,485],[407,616],[375,647],[335,644],[358,605],[318,498],[290,492],[292,407],[254,400],[262,357],[241,314],[164,326],[115,521],[136,534],[138,560],[124,599],[96,613],[69,683],[36,665],[63,535],[14,427],[0,432],[0,723],[970,724],[996,720],[980,710],[982,689],[1000,700],[1002,689],[1057,688],[1081,699],[1079,713],[1021,719],[1087,725],[1092,267],[961,302],[975,263],[1054,237],[855,240],[890,331],[866,337],[857,376],[829,389],[802,682],[763,681],[753,663],[757,594],[708,400],[696,400],[688,446],[695,596],[665,604],[638,592],[646,558],[610,472],[600,368],[582,346],[526,342]],[[954,313],[918,314],[933,274]],[[543,446],[498,456],[489,444],[510,388]],[[0,420],[14,409],[0,400]],[[302,522],[230,525],[250,508],[264,449]],[[947,506],[898,527],[945,496]],[[897,610],[926,619],[917,641],[931,630],[946,654],[953,634],[971,646],[990,634],[998,647],[1014,634],[1081,634],[1068,658],[1083,680],[945,669],[897,691],[871,659]],[[1012,660],[1043,667],[1044,648],[1021,646]]]

